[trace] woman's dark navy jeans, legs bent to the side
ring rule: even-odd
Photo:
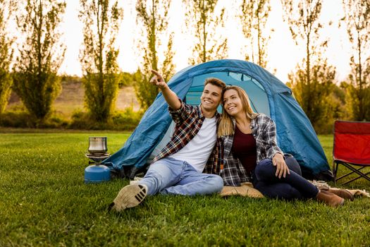
[[[252,171],[252,183],[263,195],[285,200],[315,198],[319,189],[301,176],[300,165],[294,157],[285,155],[290,174],[279,179],[272,159],[264,159]]]

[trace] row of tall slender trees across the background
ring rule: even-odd
[[[343,0],[345,16],[339,23],[330,23],[345,25],[352,44],[348,61],[352,70],[344,82],[335,81],[336,68],[328,64],[323,55],[329,43],[320,35],[323,0],[280,2],[292,39],[298,46],[305,47],[306,54],[288,75],[287,84],[316,131],[329,128],[333,119],[338,118],[370,121],[370,2]],[[112,116],[118,83],[122,80],[116,38],[125,10],[114,0],[80,0],[79,3],[79,19],[83,23],[80,64],[85,105],[91,119],[105,122]],[[135,28],[141,32],[137,48],[142,54],[142,63],[131,79],[135,81],[142,109],[147,109],[158,93],[155,87],[149,86],[150,69],[160,71],[166,81],[175,72],[175,34],[168,32],[173,1],[137,0],[135,4]],[[185,32],[195,40],[189,64],[228,56],[228,37],[219,31],[226,20],[226,8],[216,9],[218,4],[218,0],[183,0]],[[245,59],[266,68],[269,62],[266,48],[273,32],[266,28],[271,13],[270,0],[233,0],[229,4],[247,40],[243,51]],[[0,0],[0,114],[14,90],[27,111],[39,121],[49,117],[52,103],[61,90],[57,71],[66,46],[61,42],[58,27],[65,11],[66,1],[27,0],[21,4],[16,0]],[[7,31],[12,18],[18,29],[14,33],[20,37]],[[13,44],[17,38],[23,41],[15,51]]]

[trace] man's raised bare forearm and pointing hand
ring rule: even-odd
[[[178,110],[181,107],[181,102],[178,100],[178,95],[175,94],[170,88],[168,88],[167,83],[164,81],[164,78],[159,74],[157,71],[152,69],[152,73],[154,73],[154,77],[149,80],[149,83],[152,85],[156,85],[164,95],[164,99],[166,100],[169,107],[174,110]]]

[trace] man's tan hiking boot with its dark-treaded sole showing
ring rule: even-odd
[[[113,203],[109,205],[109,210],[112,208],[117,212],[121,212],[128,207],[136,207],[147,196],[148,188],[144,184],[134,183],[125,186],[118,193]]]

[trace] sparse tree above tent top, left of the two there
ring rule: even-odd
[[[217,35],[217,28],[223,27],[225,8],[219,14],[214,10],[218,0],[183,0],[187,6],[186,25],[195,36],[190,64],[200,64],[211,59],[228,56],[228,39]]]

